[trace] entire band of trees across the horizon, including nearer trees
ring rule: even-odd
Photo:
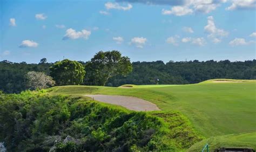
[[[0,62],[0,90],[5,93],[53,85],[194,84],[217,78],[256,79],[256,60],[131,63],[119,51],[100,51],[87,62],[65,59],[53,64],[45,58],[38,64]]]

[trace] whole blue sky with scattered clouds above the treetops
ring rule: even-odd
[[[0,1],[0,60],[251,60],[256,0]]]

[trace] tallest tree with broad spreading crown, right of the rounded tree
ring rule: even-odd
[[[119,51],[99,51],[85,65],[86,84],[105,86],[107,80],[116,75],[127,75],[132,71],[130,58]]]

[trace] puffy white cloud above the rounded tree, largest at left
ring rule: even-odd
[[[76,31],[76,30],[73,30],[70,28],[70,29],[66,30],[66,34],[64,35],[64,37],[62,39],[63,40],[78,39],[78,38],[88,39],[90,35],[91,35],[91,31],[87,31],[87,30]]]

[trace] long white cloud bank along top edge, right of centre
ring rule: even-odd
[[[227,0],[181,0],[180,4],[172,6],[170,10],[162,10],[163,15],[184,16],[194,12],[210,13]]]

